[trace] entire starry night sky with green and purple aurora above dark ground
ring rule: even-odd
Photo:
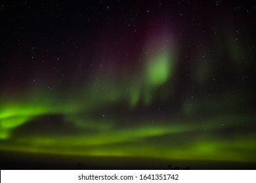
[[[0,152],[256,163],[255,11],[2,1]]]

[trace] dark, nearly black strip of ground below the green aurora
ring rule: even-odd
[[[169,166],[168,166],[169,165]],[[0,152],[1,169],[256,169],[256,163]]]

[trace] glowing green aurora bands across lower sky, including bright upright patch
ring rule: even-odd
[[[102,78],[91,86],[85,84],[83,90],[74,92],[74,97],[69,96],[70,91],[51,91],[50,94],[46,89],[40,90],[40,87],[35,92],[27,93],[27,97],[2,97],[1,150],[82,156],[256,162],[256,135],[249,130],[254,127],[255,116],[220,112],[207,118],[192,118],[191,114],[203,108],[217,110],[239,105],[232,97],[226,101],[203,98],[186,100],[182,105],[182,117],[178,116],[179,118],[157,116],[157,120],[150,120],[156,118],[150,114],[139,117],[138,120],[133,117],[138,105],[147,110],[148,105],[157,98],[154,93],[156,90],[166,90],[160,86],[172,78],[172,57],[171,52],[161,52],[148,58],[139,78],[136,76],[137,79],[132,78],[127,84],[134,86],[129,90],[123,90],[122,84],[114,86],[111,83],[112,78],[108,78],[110,82]],[[104,88],[99,90],[101,84],[104,84]],[[168,97],[173,96],[169,93]],[[108,116],[108,112],[103,109],[123,101],[131,116]],[[140,101],[142,104],[139,104]],[[95,111],[101,112],[100,118],[93,116]],[[47,115],[62,116],[62,123],[70,126],[72,131],[66,133],[60,127],[53,133],[38,133],[39,129],[35,133],[18,133],[22,125],[26,126]],[[135,120],[136,123],[125,126],[124,122],[129,124],[129,120]],[[51,123],[54,125],[54,121]],[[242,133],[238,131],[241,127],[244,128]],[[222,134],[230,129],[234,131],[228,135]]]

